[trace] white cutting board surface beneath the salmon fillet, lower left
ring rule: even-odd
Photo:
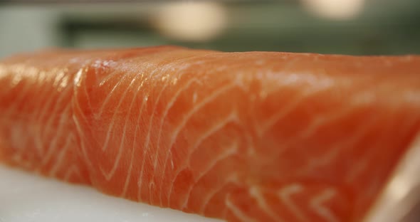
[[[0,222],[219,222],[100,194],[0,164]]]

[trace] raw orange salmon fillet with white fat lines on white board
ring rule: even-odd
[[[0,86],[1,162],[226,221],[361,221],[420,127],[420,56],[51,50]]]

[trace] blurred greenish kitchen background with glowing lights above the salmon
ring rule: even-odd
[[[41,48],[420,53],[419,0],[0,0],[0,58]]]

